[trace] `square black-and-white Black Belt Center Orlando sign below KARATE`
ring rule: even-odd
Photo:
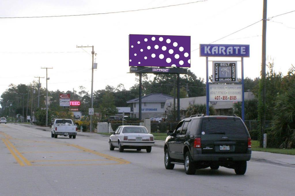
[[[213,61],[213,83],[236,83],[237,61]]]

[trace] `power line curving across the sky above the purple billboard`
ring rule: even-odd
[[[202,0],[202,1],[207,1],[207,0]],[[133,11],[143,11],[143,10],[150,10],[150,9],[160,9],[160,8],[167,8],[167,7],[174,7],[174,6],[188,5],[188,4],[194,4],[194,3],[198,3],[198,2],[202,2],[202,1],[194,1],[194,2],[183,3],[183,4],[168,5],[168,6],[160,6],[160,7],[145,8],[145,9],[126,10],[126,11],[114,11],[114,12],[104,12],[104,13],[96,13],[96,14],[73,14],[73,15],[59,15],[59,16],[0,17],[0,19],[50,18],[50,17],[66,17],[66,16],[90,16],[90,15],[102,15],[102,14],[117,14],[117,13],[125,13],[125,12],[133,12]]]

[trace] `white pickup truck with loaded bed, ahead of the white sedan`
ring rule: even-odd
[[[51,126],[51,137],[57,138],[57,135],[69,136],[76,139],[77,127],[71,119],[55,119]]]

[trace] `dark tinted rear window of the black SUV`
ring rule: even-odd
[[[203,119],[201,129],[206,134],[247,134],[240,119]]]

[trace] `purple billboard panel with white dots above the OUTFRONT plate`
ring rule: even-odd
[[[191,36],[130,34],[129,66],[191,67]]]

